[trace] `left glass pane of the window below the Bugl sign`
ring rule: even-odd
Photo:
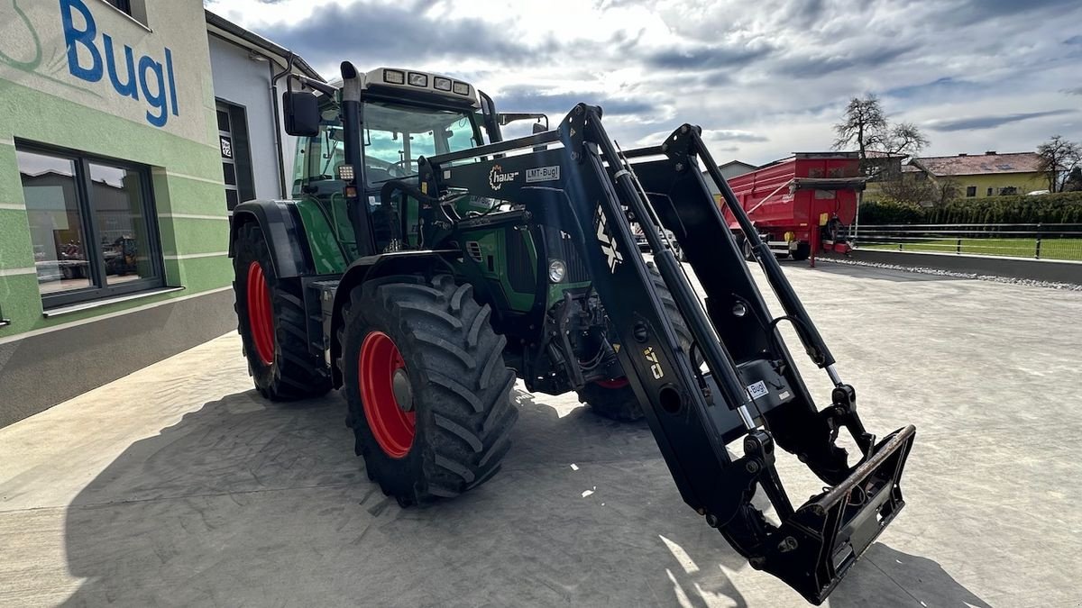
[[[17,150],[41,293],[91,286],[75,161]]]

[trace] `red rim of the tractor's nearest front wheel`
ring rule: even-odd
[[[382,331],[365,336],[357,358],[360,402],[375,442],[391,458],[403,458],[413,446],[417,414],[404,411],[395,398],[395,372],[406,369],[406,361],[395,342]]]

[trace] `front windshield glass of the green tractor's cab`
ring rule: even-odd
[[[477,146],[473,114],[366,102],[365,172],[368,183],[415,175],[417,159]]]

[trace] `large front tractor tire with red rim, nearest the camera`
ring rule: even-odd
[[[349,292],[339,334],[347,420],[369,478],[403,506],[479,486],[511,447],[515,374],[489,315],[449,275]]]

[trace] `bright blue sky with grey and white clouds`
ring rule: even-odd
[[[422,69],[503,111],[601,105],[622,147],[699,124],[720,163],[829,149],[874,93],[922,156],[1082,141],[1079,0],[206,0],[325,78]]]

